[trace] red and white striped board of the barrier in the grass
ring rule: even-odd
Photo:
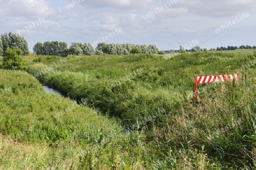
[[[210,75],[210,76],[195,76],[195,82],[197,83],[211,83],[211,82],[225,82],[228,80],[239,79],[239,74],[229,75]]]

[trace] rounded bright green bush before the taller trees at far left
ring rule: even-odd
[[[20,56],[22,50],[20,49],[7,49],[3,56],[3,69],[7,70],[26,70],[24,66],[24,60]]]

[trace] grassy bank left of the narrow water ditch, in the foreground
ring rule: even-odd
[[[125,135],[113,118],[46,94],[27,73],[0,70],[0,95],[0,169],[148,166],[143,135]]]

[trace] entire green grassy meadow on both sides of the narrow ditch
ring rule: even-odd
[[[245,66],[255,61],[256,51],[164,55],[68,56],[62,63],[56,56],[24,57],[27,72],[40,83],[88,102],[56,118],[52,115],[75,102],[46,94],[29,74],[1,70],[0,89],[11,87],[0,97],[2,139],[18,142],[8,143],[13,150],[37,147],[40,159],[20,151],[19,165],[28,168],[34,163],[75,169],[255,167],[256,65]],[[199,103],[189,98],[195,76],[238,69],[239,82],[206,88]],[[6,155],[11,153],[2,148],[0,169],[18,163],[8,159],[18,154]],[[89,150],[89,156],[79,150]]]

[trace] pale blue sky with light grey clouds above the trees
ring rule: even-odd
[[[0,0],[0,33],[36,42],[256,45],[255,0]]]

